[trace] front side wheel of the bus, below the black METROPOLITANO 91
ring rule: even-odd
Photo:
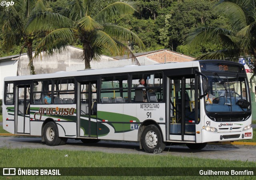
[[[148,153],[162,152],[166,144],[162,140],[162,135],[156,125],[148,125],[142,132],[141,144]]]

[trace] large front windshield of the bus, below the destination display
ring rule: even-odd
[[[208,94],[205,96],[205,109],[208,112],[250,111],[248,85],[245,77],[208,75]],[[244,103],[241,105],[241,103]]]

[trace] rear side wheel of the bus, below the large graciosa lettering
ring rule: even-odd
[[[57,126],[54,122],[48,122],[44,125],[43,130],[44,141],[48,146],[58,146],[62,141],[59,137]]]

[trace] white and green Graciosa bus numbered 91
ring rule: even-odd
[[[201,149],[252,138],[246,71],[230,61],[6,77],[3,97],[4,129],[49,146],[125,140],[154,153],[166,144]]]

